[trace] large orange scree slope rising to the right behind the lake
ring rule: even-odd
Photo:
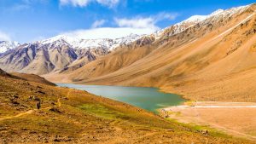
[[[119,60],[108,59],[111,65],[96,71],[100,77],[79,77],[79,84],[154,86],[201,101],[256,101],[251,89],[256,61],[255,7],[228,9],[183,32],[161,37],[143,59],[104,75],[110,66],[119,66],[115,62]],[[76,72],[68,75],[77,76]]]

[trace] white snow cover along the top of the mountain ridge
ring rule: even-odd
[[[161,29],[160,31],[154,32],[150,35],[137,35],[131,34],[127,37],[119,37],[115,39],[111,38],[99,38],[99,39],[81,39],[78,37],[70,37],[67,35],[59,35],[56,37],[50,37],[45,40],[33,42],[38,45],[47,45],[49,48],[61,47],[62,45],[68,45],[73,49],[105,49],[107,51],[111,51],[116,49],[119,46],[127,45],[129,43],[135,42],[142,37],[155,37],[155,39],[159,39],[160,37],[172,36],[177,33],[183,32],[191,26],[195,26],[198,23],[208,24],[212,23],[213,20],[222,20],[224,18],[229,18],[233,14],[240,14],[249,8],[250,5],[241,6],[232,9],[218,9],[214,11],[212,14],[208,15],[193,15],[189,17],[187,20],[183,20],[173,26],[166,27],[165,29]],[[33,44],[33,43],[27,43]],[[26,45],[27,45],[26,44]],[[0,54],[6,52],[9,49],[15,49],[20,46],[20,43],[17,42],[7,42],[0,41]]]

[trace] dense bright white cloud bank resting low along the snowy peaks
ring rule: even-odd
[[[134,28],[134,27],[104,27],[93,28],[89,30],[77,30],[73,32],[61,33],[70,37],[78,37],[84,39],[96,39],[96,38],[118,38],[125,37],[132,34],[151,34],[155,32],[155,29],[151,28]]]

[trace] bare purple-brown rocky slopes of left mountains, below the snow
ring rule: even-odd
[[[73,49],[64,40],[52,43],[29,43],[3,53],[0,56],[0,66],[8,72],[44,74],[59,72],[72,64],[73,61],[76,61],[73,66],[83,66],[91,60],[96,60],[96,56],[107,53],[104,49],[97,51],[94,49]]]

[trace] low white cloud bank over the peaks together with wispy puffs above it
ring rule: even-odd
[[[101,28],[97,27],[104,25],[106,20],[96,20],[92,24],[91,29],[63,32],[61,35],[83,39],[96,39],[126,37],[130,34],[151,34],[160,30],[160,27],[157,26],[157,22],[161,20],[174,20],[176,17],[177,14],[159,13],[149,17],[137,16],[131,19],[114,18],[113,20],[118,27]]]

